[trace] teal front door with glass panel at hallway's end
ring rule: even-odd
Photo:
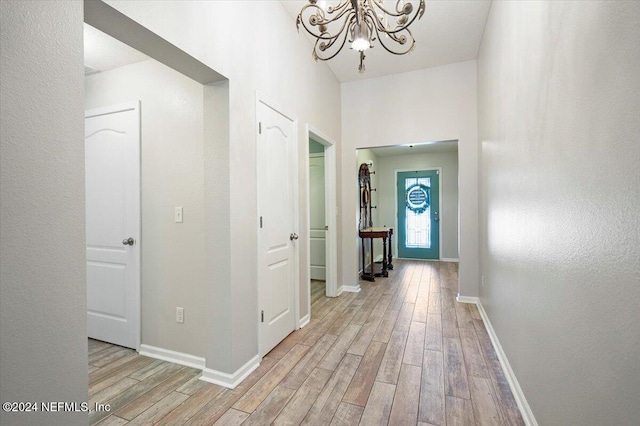
[[[398,172],[398,257],[440,258],[438,170]]]

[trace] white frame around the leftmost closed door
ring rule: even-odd
[[[142,138],[141,138],[142,116],[140,112],[141,111],[140,101],[139,100],[130,101],[130,102],[124,102],[124,103],[115,104],[115,105],[108,105],[104,107],[88,109],[88,110],[85,110],[84,112],[84,118],[86,120],[89,117],[96,117],[96,116],[106,115],[106,114],[114,114],[118,112],[129,111],[129,110],[135,111],[136,115],[138,116],[138,128],[137,128],[137,134],[136,134],[136,138],[138,140],[138,158],[136,159],[136,161],[138,163],[139,174],[138,176],[135,177],[137,179],[138,210],[134,212],[134,214],[138,218],[138,227],[137,227],[138,229],[137,229],[137,235],[132,235],[132,237],[136,241],[135,245],[130,246],[130,249],[133,251],[133,257],[135,258],[135,261],[136,261],[137,270],[134,272],[136,276],[135,285],[134,285],[135,288],[133,292],[135,295],[135,300],[129,301],[129,302],[133,302],[133,306],[136,310],[132,319],[134,333],[135,333],[134,349],[137,352],[140,352],[140,343],[141,343],[141,335],[142,335],[142,327],[141,327],[141,322],[142,322],[142,319],[141,319],[141,316],[142,316],[142,290],[141,290],[142,288],[142,261],[141,261],[141,258],[142,258],[142,198],[141,198],[142,197]],[[86,171],[85,171],[85,175],[86,175]],[[85,223],[85,228],[86,228],[86,223]],[[86,229],[85,229],[85,233],[86,233]],[[86,269],[86,262],[85,262],[85,269]]]

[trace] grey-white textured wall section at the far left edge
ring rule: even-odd
[[[87,400],[82,3],[0,2],[0,401]],[[0,411],[2,425],[86,413]]]

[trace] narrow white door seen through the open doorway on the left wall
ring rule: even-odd
[[[309,158],[310,274],[312,280],[327,279],[324,154]]]

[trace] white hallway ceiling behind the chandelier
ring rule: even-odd
[[[335,0],[329,1],[329,4],[335,3]],[[393,8],[396,2],[384,3],[385,7]],[[417,1],[413,3],[417,5]],[[296,17],[307,1],[283,0],[282,4],[295,25]],[[413,52],[392,55],[374,42],[374,48],[366,51],[366,71],[360,74],[357,52],[345,45],[327,64],[341,82],[346,82],[476,59],[490,6],[491,0],[426,0],[424,16],[409,27],[416,39]],[[310,41],[309,60],[312,60],[315,39],[301,29],[300,37],[305,36]]]

